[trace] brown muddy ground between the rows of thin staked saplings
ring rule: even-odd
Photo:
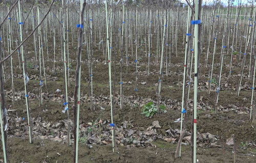
[[[32,41],[32,40],[31,40]],[[97,41],[96,41],[97,42]],[[182,37],[179,42],[182,42]],[[70,86],[68,88],[69,100],[72,105],[74,92],[74,71],[76,67],[76,44],[72,46],[70,42]],[[43,105],[39,105],[39,70],[34,68],[35,57],[33,46],[28,43],[27,50],[27,66],[28,76],[30,77],[28,83],[28,90],[30,94],[29,103],[32,118],[38,117],[45,122],[57,123],[67,119],[67,114],[63,114],[63,92],[65,90],[63,82],[63,69],[61,61],[60,43],[57,43],[56,48],[56,73],[53,72],[53,43],[49,39],[49,61],[47,60],[47,49],[44,48],[45,67],[47,85],[44,83],[43,91]],[[206,47],[206,45],[204,45]],[[218,78],[220,69],[220,48],[221,41],[219,40],[217,53],[214,65],[214,77]],[[134,46],[135,49],[135,46]],[[129,121],[134,127],[147,128],[151,126],[153,121],[159,121],[160,129],[157,129],[158,134],[166,134],[167,129],[179,129],[180,123],[175,122],[181,116],[181,100],[182,100],[182,81],[183,81],[183,65],[184,65],[184,45],[178,45],[178,57],[172,52],[171,64],[167,67],[164,63],[164,75],[162,82],[161,104],[166,106],[166,113],[155,115],[147,118],[141,114],[141,108],[144,104],[154,101],[156,104],[156,84],[159,78],[159,58],[156,64],[156,47],[152,47],[152,59],[150,65],[150,75],[147,76],[147,55],[145,47],[141,46],[138,50],[138,91],[135,89],[135,56],[131,55],[131,48],[129,47],[129,66],[126,71],[126,64],[123,64],[123,94],[124,107],[120,109],[118,101],[120,98],[120,63],[119,52],[116,55],[116,85],[115,85],[115,100],[114,100],[114,123],[121,125],[124,121]],[[200,58],[200,82],[198,99],[198,123],[197,128],[199,133],[211,133],[218,138],[217,145],[219,147],[210,148],[209,146],[198,146],[197,159],[199,162],[233,162],[233,145],[226,144],[226,140],[234,134],[237,147],[237,162],[255,162],[256,158],[256,124],[249,120],[249,108],[251,100],[251,78],[248,79],[249,59],[246,61],[246,68],[244,70],[242,80],[242,90],[240,96],[236,96],[237,85],[239,82],[239,74],[241,74],[242,58],[237,57],[236,62],[233,63],[231,78],[229,75],[230,52],[225,55],[224,67],[222,72],[222,82],[220,97],[218,103],[218,112],[215,114],[215,98],[217,86],[212,84],[211,93],[208,95],[208,80],[210,65],[204,66],[207,48],[203,48]],[[135,53],[135,52],[134,52]],[[248,55],[249,56],[249,55]],[[168,56],[169,57],[169,56]],[[243,57],[243,56],[242,56]],[[249,57],[248,57],[249,58]],[[211,63],[212,53],[209,54],[209,61]],[[169,60],[169,59],[168,59]],[[105,121],[111,119],[110,105],[109,105],[109,75],[108,65],[105,63],[105,57],[102,53],[102,47],[94,47],[93,56],[93,110],[90,110],[90,89],[89,84],[89,70],[87,63],[86,50],[83,50],[82,73],[81,73],[81,105],[80,105],[80,124]],[[112,71],[114,79],[114,50],[112,58]],[[27,120],[26,105],[24,99],[24,82],[23,73],[18,67],[18,57],[13,57],[14,67],[14,88],[15,100],[12,99],[11,92],[11,78],[9,63],[5,65],[6,77],[6,101],[8,117],[10,119],[20,117]],[[31,66],[32,65],[32,66]],[[194,69],[194,68],[193,68]],[[146,82],[142,85],[142,82]],[[188,82],[188,81],[187,81]],[[193,83],[190,88],[190,99],[188,100],[188,112],[186,114],[187,121],[186,128],[190,130],[190,119],[193,106]],[[60,93],[55,91],[60,89]],[[71,108],[71,106],[70,106]],[[103,109],[102,109],[103,108]],[[70,109],[70,118],[73,120],[73,111]],[[11,123],[9,121],[9,123]],[[8,130],[8,153],[9,162],[72,162],[73,160],[73,146],[68,147],[65,141],[55,142],[50,139],[42,140],[40,137],[34,137],[34,143],[29,144],[28,129],[22,131],[25,134],[22,136],[15,135],[11,129]],[[51,132],[51,131],[50,131]],[[49,135],[50,132],[42,135]],[[182,145],[182,157],[174,159],[175,150],[177,148],[176,142],[166,142],[161,139],[156,139],[152,142],[155,147],[136,147],[134,145],[118,146],[118,152],[112,153],[111,143],[107,145],[92,144],[89,148],[87,143],[79,144],[79,162],[190,162],[190,146]],[[2,144],[0,146],[2,149]],[[0,152],[0,160],[3,160],[3,153]],[[1,162],[1,161],[0,161]]]

